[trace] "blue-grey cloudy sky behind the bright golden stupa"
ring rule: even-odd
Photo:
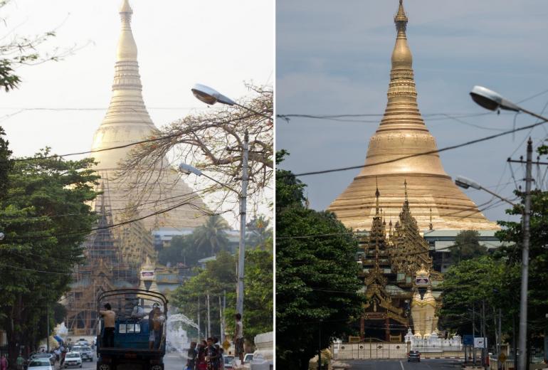
[[[398,3],[277,1],[276,113],[379,115],[358,119],[362,122],[278,120],[276,147],[291,154],[283,168],[299,173],[364,163],[369,137],[386,107]],[[547,1],[404,0],[404,7],[409,16],[407,36],[418,106],[438,148],[496,134],[514,125],[515,115],[488,113],[475,105],[468,95],[473,85],[484,85],[513,102],[544,92],[522,102],[522,106],[548,115]],[[488,114],[460,117],[458,122],[440,120],[444,116],[433,116],[436,113],[453,117]],[[534,122],[534,118],[521,114],[515,125]],[[527,130],[443,152],[443,166],[453,178],[468,176],[510,197],[515,184],[523,184],[525,167],[512,164],[511,171],[506,159],[525,156],[528,134]],[[530,134],[538,145],[548,137],[548,127]],[[546,173],[546,166],[541,171],[540,177]],[[311,206],[326,208],[358,172],[303,176]],[[478,204],[490,199],[482,191],[465,192]],[[504,210],[501,205],[484,214],[491,220],[507,219]]]

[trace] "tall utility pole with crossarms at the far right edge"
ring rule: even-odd
[[[533,143],[527,141],[527,164],[525,166],[525,211],[523,212],[523,245],[522,245],[522,289],[520,301],[520,363],[519,370],[527,368],[527,285],[529,282],[529,221],[531,216],[531,183],[532,183]]]

